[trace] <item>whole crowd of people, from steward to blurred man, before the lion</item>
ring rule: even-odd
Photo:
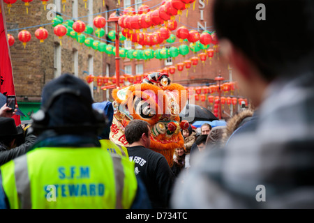
[[[170,167],[145,121],[110,141],[112,103],[63,74],[29,125],[0,109],[0,208],[314,208],[313,1],[216,0],[214,26],[254,109],[190,125]]]

